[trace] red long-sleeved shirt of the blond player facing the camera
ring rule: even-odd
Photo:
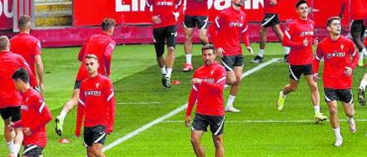
[[[106,133],[113,131],[115,121],[115,95],[109,78],[98,74],[81,82],[76,132],[80,135],[81,122],[84,127],[103,125]]]

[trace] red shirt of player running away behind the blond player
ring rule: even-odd
[[[88,77],[88,70],[84,66],[84,57],[88,54],[94,54],[98,57],[98,73],[110,76],[111,56],[115,47],[116,41],[104,32],[90,36],[79,51],[78,60],[81,61],[81,65],[76,80],[83,81]]]

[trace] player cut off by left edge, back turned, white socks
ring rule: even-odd
[[[22,97],[15,89],[12,74],[23,67],[28,70],[31,87],[35,87],[37,80],[32,74],[28,63],[18,54],[10,52],[10,41],[7,36],[0,36],[0,114],[4,120],[4,135],[9,153],[17,156],[23,141],[22,129],[11,130],[9,124],[21,119]]]

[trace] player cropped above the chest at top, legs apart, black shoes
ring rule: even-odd
[[[269,27],[273,29],[273,32],[279,38],[280,42],[283,42],[283,32],[280,29],[279,17],[278,17],[278,12],[281,8],[279,1],[280,0],[264,0],[265,16],[264,19],[262,20],[260,29],[260,50],[259,53],[255,56],[255,58],[251,61],[252,63],[262,62],[262,59],[264,59],[266,35],[268,34],[267,29]],[[286,53],[284,55],[284,61],[287,62],[290,48],[284,47],[284,49]]]

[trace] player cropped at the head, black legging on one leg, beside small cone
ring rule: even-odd
[[[153,21],[153,41],[164,87],[171,87],[171,75],[175,62],[177,21],[182,14],[182,0],[146,0],[145,12]],[[152,7],[153,12],[150,11]],[[164,59],[164,42],[168,54]]]

